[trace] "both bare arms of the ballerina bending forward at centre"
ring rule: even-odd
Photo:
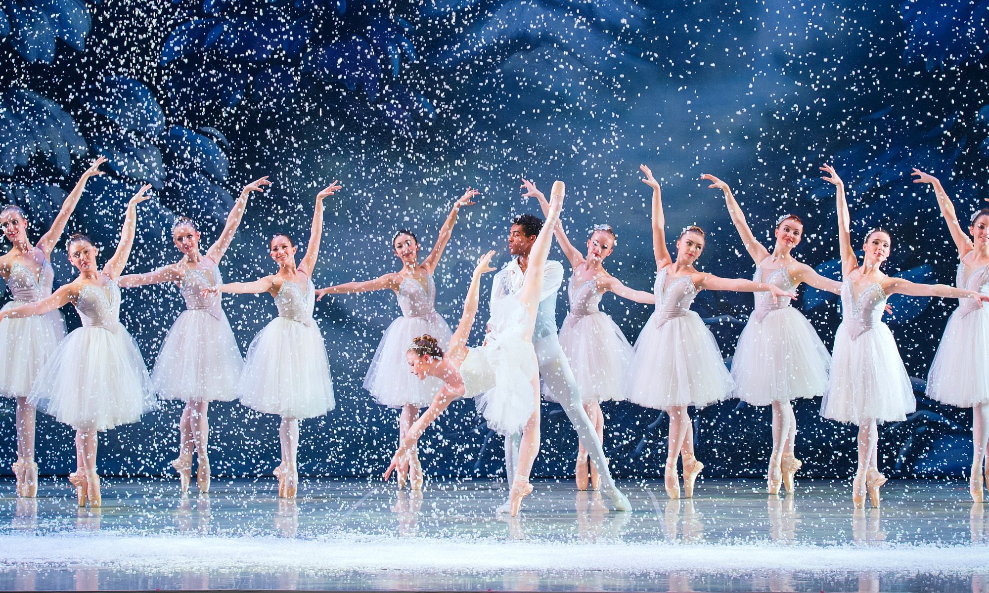
[[[471,335],[471,327],[474,325],[474,318],[478,313],[478,301],[481,296],[481,276],[495,270],[491,266],[492,257],[494,257],[494,251],[484,254],[478,261],[478,265],[474,268],[474,274],[471,277],[471,286],[467,289],[467,297],[464,299],[464,313],[460,317],[460,323],[457,324],[457,330],[453,332],[453,337],[450,338],[450,346],[443,356],[444,360],[450,366],[458,370],[458,376],[460,365],[467,357],[467,340]],[[463,384],[463,378],[460,378],[460,382]],[[398,469],[400,474],[404,474],[407,471],[408,462],[410,461],[408,454],[415,449],[416,441],[422,436],[426,427],[432,424],[443,413],[443,410],[459,396],[444,381],[443,386],[436,392],[436,396],[433,397],[429,407],[419,414],[418,419],[405,431],[405,439],[399,445],[399,450],[392,456],[392,463],[385,470],[385,481],[388,481],[389,476],[392,475],[392,471],[395,469]]]

